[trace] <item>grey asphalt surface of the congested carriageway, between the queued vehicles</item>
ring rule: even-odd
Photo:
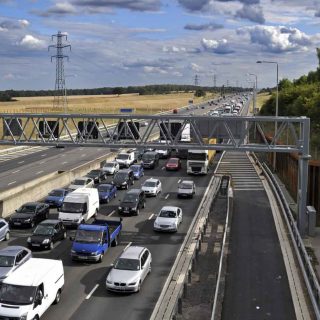
[[[134,184],[139,187],[148,177],[158,177],[163,184],[163,191],[157,198],[148,198],[146,208],[137,217],[125,217],[120,244],[111,248],[101,264],[72,262],[70,258],[71,241],[64,240],[55,245],[52,252],[35,252],[36,257],[62,259],[65,269],[66,285],[59,305],[52,306],[43,319],[103,319],[106,312],[114,319],[147,319],[155,306],[162,286],[170,272],[177,252],[200,203],[211,175],[193,177],[197,186],[197,195],[193,200],[178,199],[176,190],[178,181],[186,175],[186,163],[179,172],[163,170],[165,160],[155,170],[146,171],[145,177]],[[131,188],[133,188],[131,187]],[[114,212],[125,191],[119,191],[117,199],[102,205],[100,214],[107,216]],[[183,223],[177,233],[155,233],[152,230],[154,214],[164,205],[176,205],[183,210]],[[51,214],[55,217],[56,214]],[[112,218],[118,217],[117,213]],[[26,245],[30,229],[12,230],[9,245]],[[69,234],[73,231],[68,231]],[[105,290],[105,278],[110,264],[129,244],[142,245],[150,249],[152,254],[152,272],[146,279],[139,294],[118,295]],[[0,247],[7,243],[2,242]],[[97,287],[98,285],[98,287]],[[94,288],[96,290],[91,292]],[[91,293],[91,295],[90,295]],[[90,295],[90,296],[89,296]],[[125,306],[125,307],[124,307]]]

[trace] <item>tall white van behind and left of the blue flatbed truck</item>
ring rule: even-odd
[[[67,194],[59,209],[59,219],[67,226],[77,227],[97,215],[99,193],[96,188],[80,188]]]

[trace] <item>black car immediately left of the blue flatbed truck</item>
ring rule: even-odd
[[[60,220],[44,220],[38,224],[28,238],[30,248],[53,249],[53,244],[67,237],[65,226]]]

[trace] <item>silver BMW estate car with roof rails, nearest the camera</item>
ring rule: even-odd
[[[116,260],[106,279],[106,288],[116,292],[138,292],[151,272],[151,253],[145,247],[130,246]]]

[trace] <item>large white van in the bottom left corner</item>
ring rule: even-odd
[[[39,319],[60,301],[64,286],[61,260],[31,258],[0,286],[1,319]]]

